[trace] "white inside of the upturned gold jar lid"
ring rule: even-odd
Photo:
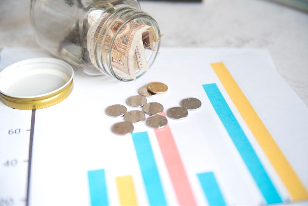
[[[74,76],[71,65],[55,58],[35,58],[12,64],[0,72],[0,93],[35,98],[55,93]]]

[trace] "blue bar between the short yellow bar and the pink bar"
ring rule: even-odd
[[[150,205],[167,205],[147,132],[132,133]]]

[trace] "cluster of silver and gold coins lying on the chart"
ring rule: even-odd
[[[107,107],[106,114],[110,117],[122,117],[124,116],[124,122],[115,123],[111,130],[115,134],[130,134],[134,130],[132,123],[143,122],[145,120],[145,114],[150,115],[146,124],[152,128],[160,129],[167,125],[168,120],[166,117],[159,115],[164,111],[164,106],[158,102],[147,103],[147,98],[157,94],[165,93],[168,91],[168,86],[161,82],[151,82],[138,90],[140,95],[128,97],[126,104],[130,107],[139,108],[142,107],[142,111],[132,110],[127,111],[124,105],[111,105]],[[201,107],[201,101],[190,97],[181,101],[180,107],[172,107],[168,109],[167,115],[172,119],[184,119],[188,115],[189,110],[195,110]]]

